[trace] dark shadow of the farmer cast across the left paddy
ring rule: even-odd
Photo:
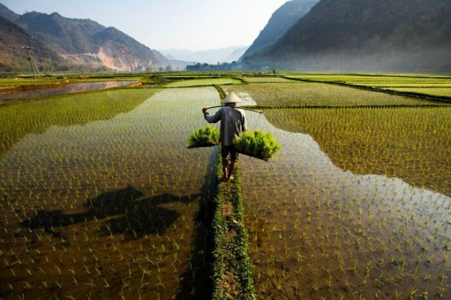
[[[171,202],[187,204],[199,197],[198,194],[178,197],[166,193],[140,199],[143,196],[142,192],[129,185],[121,190],[102,193],[88,199],[82,205],[85,211],[80,213],[64,214],[61,210],[40,210],[36,216],[20,225],[30,229],[42,228],[47,233],[61,237],[56,228],[108,219],[101,226],[104,235],[123,234],[124,240],[137,240],[144,235],[164,233],[180,216],[177,211],[159,205]]]

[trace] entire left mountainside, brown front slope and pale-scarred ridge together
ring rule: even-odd
[[[30,70],[23,46],[31,46],[39,70],[145,71],[171,62],[114,27],[58,13],[18,15],[0,4],[0,70]]]

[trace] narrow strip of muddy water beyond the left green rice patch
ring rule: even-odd
[[[66,86],[56,88],[39,89],[32,91],[9,91],[0,92],[0,100],[30,99],[49,96],[62,95],[66,93],[81,93],[84,91],[98,91],[102,89],[111,89],[126,84],[134,84],[137,81],[99,81],[99,82],[75,82]]]

